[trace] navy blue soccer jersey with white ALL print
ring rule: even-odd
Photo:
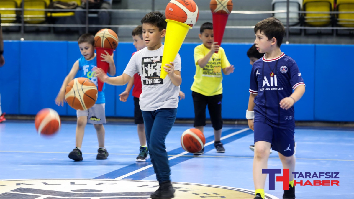
[[[253,63],[250,93],[255,97],[255,122],[279,128],[295,127],[294,107],[280,108],[280,101],[289,97],[299,85],[305,85],[296,62],[281,53],[278,58],[258,59]]]

